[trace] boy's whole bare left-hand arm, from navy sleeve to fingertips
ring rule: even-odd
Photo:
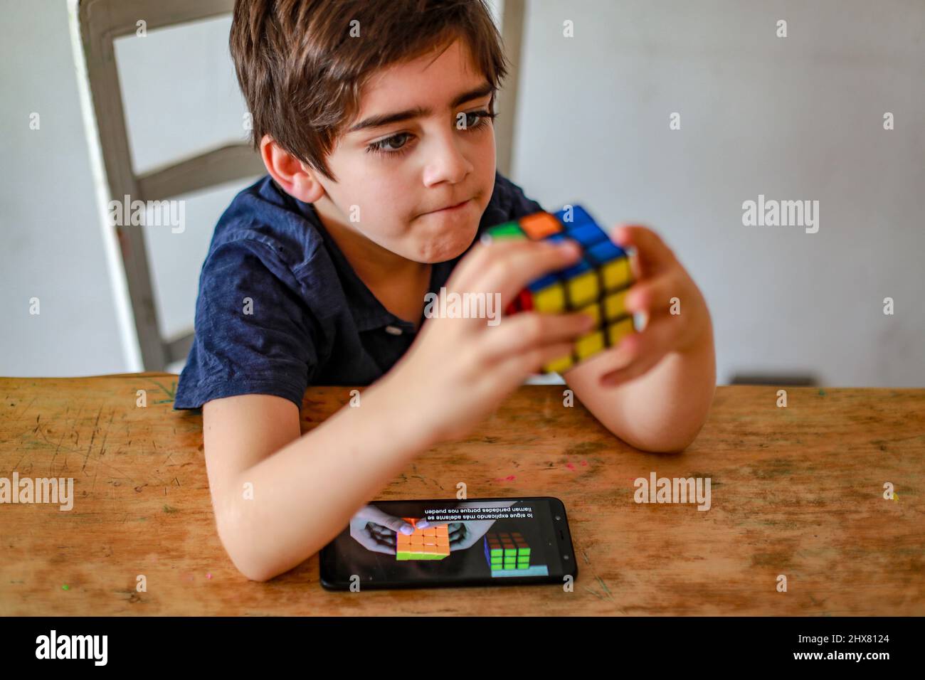
[[[568,243],[478,243],[446,288],[499,291],[507,304],[579,256]],[[360,406],[341,408],[301,437],[299,409],[281,397],[205,402],[209,486],[232,562],[266,580],[313,555],[415,456],[469,434],[526,377],[568,352],[586,322],[580,314],[524,313],[490,328],[477,317],[429,318]]]

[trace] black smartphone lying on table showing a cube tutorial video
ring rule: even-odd
[[[578,577],[557,498],[374,501],[321,550],[328,590],[523,586]]]

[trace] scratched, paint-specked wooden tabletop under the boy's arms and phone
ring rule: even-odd
[[[558,496],[573,592],[353,594],[319,585],[316,556],[265,584],[238,574],[216,536],[202,418],[172,410],[176,379],[0,379],[0,477],[75,485],[69,512],[0,505],[0,614],[925,614],[925,389],[791,388],[777,408],[774,388],[720,387],[697,441],[656,455],[563,407],[561,386],[521,388],[380,498],[452,498],[459,481],[470,498]],[[349,391],[306,392],[302,430]],[[636,504],[652,471],[709,476],[711,509]]]

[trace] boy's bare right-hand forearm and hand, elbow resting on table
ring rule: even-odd
[[[626,309],[646,328],[563,376],[604,427],[644,451],[682,451],[703,427],[716,391],[716,352],[707,303],[658,234],[624,226],[636,282]],[[672,313],[673,312],[673,313]]]

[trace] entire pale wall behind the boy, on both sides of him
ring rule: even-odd
[[[0,11],[0,375],[131,370],[65,0]],[[137,169],[244,138],[228,25],[117,43]],[[721,383],[734,371],[925,383],[925,5],[531,0],[525,31],[513,179],[549,208],[580,201],[658,229],[708,298]],[[668,130],[672,111],[682,130]],[[191,326],[212,229],[244,183],[190,198],[184,233],[147,232],[166,334]],[[741,204],[759,193],[819,200],[819,233],[744,227]]]

